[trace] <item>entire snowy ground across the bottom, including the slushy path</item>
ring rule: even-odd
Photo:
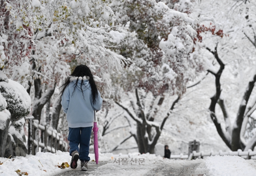
[[[35,156],[16,157],[13,159],[0,158],[0,176],[17,176],[15,170],[27,172],[29,176],[43,175],[205,175],[205,176],[255,176],[256,160],[244,160],[238,156],[211,156],[205,159],[197,159],[193,161],[187,160],[169,160],[163,159],[161,156],[154,154],[132,153],[127,155],[114,155],[112,153],[99,155],[99,167],[96,170],[96,163],[93,162],[94,154],[89,155],[91,162],[88,164],[89,171],[81,172],[78,169],[60,169],[54,165],[62,162],[70,162],[71,157],[67,152],[58,151],[52,153],[37,153]],[[113,156],[113,157],[112,157]],[[113,163],[118,158],[128,158],[127,165]],[[133,158],[134,162],[130,162]],[[135,158],[137,161],[135,162]],[[139,158],[144,158],[144,162],[140,162]],[[13,161],[12,161],[13,160]],[[124,159],[126,160],[126,159]],[[140,159],[143,160],[143,159]],[[40,162],[41,163],[40,163]],[[121,161],[121,160],[120,160]],[[134,164],[134,165],[131,165]],[[79,166],[78,166],[79,167]],[[45,170],[45,171],[44,171]],[[74,172],[74,174],[72,174]],[[75,174],[76,173],[76,174]]]

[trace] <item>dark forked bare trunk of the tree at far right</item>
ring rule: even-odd
[[[254,85],[256,82],[256,74],[254,75],[253,80],[251,80],[248,83],[247,89],[245,90],[242,102],[238,109],[235,123],[233,125],[233,128],[231,128],[230,120],[229,120],[228,113],[227,113],[227,110],[224,105],[224,101],[222,99],[220,99],[220,95],[221,95],[220,77],[221,77],[221,74],[222,74],[225,66],[224,66],[223,62],[221,61],[221,59],[218,57],[217,45],[216,45],[214,51],[211,51],[209,48],[207,48],[207,50],[209,50],[215,56],[215,59],[217,60],[217,62],[220,65],[220,68],[217,73],[214,73],[213,71],[208,70],[209,73],[211,73],[215,76],[215,86],[216,86],[216,93],[213,97],[211,97],[211,104],[209,107],[211,119],[213,120],[213,122],[215,124],[218,134],[220,135],[222,140],[225,142],[225,144],[232,151],[237,151],[238,149],[248,150],[249,148],[252,148],[256,145],[256,137],[253,137],[251,139],[251,141],[248,142],[248,146],[245,146],[245,144],[241,141],[240,133],[241,133],[242,123],[243,123],[244,116],[245,116],[245,110],[247,107],[247,103],[248,103],[252,89],[254,88]],[[218,122],[216,114],[215,114],[215,107],[216,107],[217,103],[221,107],[221,110],[222,110],[222,113],[224,116],[224,120],[226,122],[225,130],[222,129],[221,123]]]

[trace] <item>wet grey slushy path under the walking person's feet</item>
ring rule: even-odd
[[[137,167],[126,167],[114,165],[109,162],[99,162],[98,170],[96,170],[95,162],[88,163],[88,171],[80,171],[80,162],[78,168],[68,170],[61,174],[57,174],[55,176],[84,176],[84,175],[143,175],[143,176],[155,176],[155,175],[166,175],[166,176],[190,176],[190,175],[206,175],[206,173],[202,173],[196,171],[196,168],[203,161],[190,161],[186,163],[180,162],[179,164],[171,164],[171,163],[163,163],[161,161],[155,162],[155,165],[152,168],[148,168],[147,166],[137,166]]]

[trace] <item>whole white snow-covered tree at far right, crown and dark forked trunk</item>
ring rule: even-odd
[[[227,35],[222,39],[206,38],[203,42],[208,50],[203,55],[212,58],[215,65],[209,63],[207,69],[216,86],[210,117],[231,150],[254,149],[255,130],[248,126],[255,113],[255,4],[241,0],[214,1],[209,5],[209,1],[201,1],[197,9],[195,16],[200,16],[205,24],[214,23]]]

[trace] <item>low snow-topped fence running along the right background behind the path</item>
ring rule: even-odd
[[[248,151],[242,151],[241,149],[238,149],[237,151],[219,151],[219,152],[196,152],[193,151],[190,155],[171,155],[171,159],[183,159],[183,160],[192,160],[196,158],[205,158],[208,156],[215,156],[215,155],[231,155],[231,156],[241,156],[244,159],[256,159],[256,151],[248,150]]]

